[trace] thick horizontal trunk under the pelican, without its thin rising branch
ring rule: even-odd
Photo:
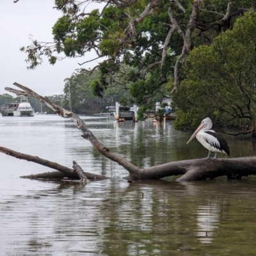
[[[136,175],[130,173],[125,179],[161,179],[174,175],[181,175],[176,179],[179,182],[214,179],[220,176],[241,179],[243,176],[256,175],[256,157],[177,161],[141,170]]]

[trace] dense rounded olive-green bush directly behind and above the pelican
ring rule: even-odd
[[[237,19],[211,46],[194,49],[187,59],[186,79],[173,100],[177,129],[214,122],[255,129],[256,13]]]

